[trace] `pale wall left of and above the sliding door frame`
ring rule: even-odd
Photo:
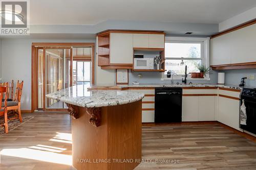
[[[94,42],[95,40],[2,39],[3,81],[23,80],[22,110],[31,109],[32,42]],[[1,50],[1,48],[0,48]]]

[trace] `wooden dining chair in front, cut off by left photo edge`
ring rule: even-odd
[[[4,116],[4,123],[0,124],[0,126],[5,127],[5,133],[8,133],[8,117],[7,117],[7,91],[8,87],[0,86],[0,101],[3,100],[4,96],[4,105],[0,107],[0,116]]]

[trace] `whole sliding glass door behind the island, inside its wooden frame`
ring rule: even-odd
[[[83,89],[91,85],[92,47],[36,47],[36,63],[37,110],[66,109],[65,103],[45,95],[73,85],[84,85],[79,86]]]

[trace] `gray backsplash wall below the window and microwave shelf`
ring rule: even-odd
[[[138,77],[138,74],[142,75],[142,78]],[[161,81],[162,73],[161,72],[129,72],[129,83],[137,81],[140,84],[170,84],[171,80]],[[210,81],[207,80],[188,80],[187,82],[192,83],[217,83],[218,80],[218,72],[212,71],[210,75]],[[174,83],[181,83],[181,80],[174,80]]]

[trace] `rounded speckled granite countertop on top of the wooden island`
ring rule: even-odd
[[[120,90],[91,90],[88,86],[75,85],[46,94],[47,98],[81,107],[116,106],[133,103],[144,98],[143,93]]]

